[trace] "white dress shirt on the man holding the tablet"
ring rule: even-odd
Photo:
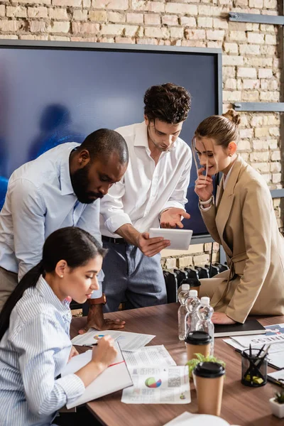
[[[192,153],[178,138],[162,152],[157,165],[151,158],[145,122],[116,129],[129,148],[124,178],[101,200],[101,232],[119,238],[116,229],[132,224],[138,231],[158,228],[159,215],[168,207],[184,209],[190,182]]]

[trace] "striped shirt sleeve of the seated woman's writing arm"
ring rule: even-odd
[[[62,348],[62,332],[58,331],[55,318],[43,314],[34,317],[17,333],[13,344],[20,353],[19,369],[32,413],[51,415],[84,393],[84,383],[75,374],[55,378],[55,354],[62,354],[62,364],[67,362],[66,348],[58,352]]]

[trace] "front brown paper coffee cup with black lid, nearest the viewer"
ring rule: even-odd
[[[225,368],[217,362],[200,362],[193,370],[198,413],[220,415]]]

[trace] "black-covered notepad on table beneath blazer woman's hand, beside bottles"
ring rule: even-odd
[[[257,320],[247,320],[244,324],[214,324],[214,337],[246,336],[265,334],[266,329]]]

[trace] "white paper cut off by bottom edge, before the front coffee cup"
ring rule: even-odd
[[[164,426],[229,426],[229,423],[221,417],[209,414],[191,414],[187,411],[170,420]]]

